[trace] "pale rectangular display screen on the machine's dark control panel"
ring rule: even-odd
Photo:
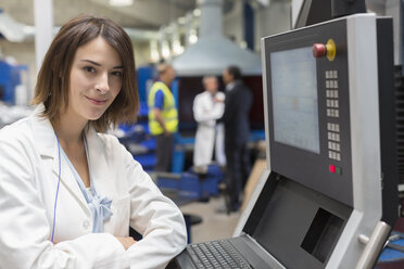
[[[312,47],[270,53],[274,140],[319,153],[316,60]]]

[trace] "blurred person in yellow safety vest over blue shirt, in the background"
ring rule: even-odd
[[[172,65],[161,63],[156,67],[159,80],[149,91],[149,129],[155,138],[155,171],[169,171],[174,150],[174,133],[178,128],[178,112],[169,89],[176,77]]]

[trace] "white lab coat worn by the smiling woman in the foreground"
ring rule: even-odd
[[[58,143],[50,121],[34,114],[0,130],[0,268],[164,268],[182,251],[182,214],[163,196],[140,164],[109,134],[87,132],[97,192],[113,200],[104,233],[62,157],[54,242]],[[116,236],[132,227],[143,235],[127,251]]]

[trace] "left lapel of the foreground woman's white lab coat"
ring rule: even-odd
[[[80,203],[81,207],[90,214],[86,198],[84,197],[66,159],[62,155],[62,149],[60,152],[61,158],[59,158],[58,141],[51,123],[48,118],[39,115],[43,108],[42,104],[38,105],[31,115],[37,150],[45,163],[52,159],[52,172],[54,174],[53,178],[55,180],[59,180],[59,159],[61,159],[61,183]]]

